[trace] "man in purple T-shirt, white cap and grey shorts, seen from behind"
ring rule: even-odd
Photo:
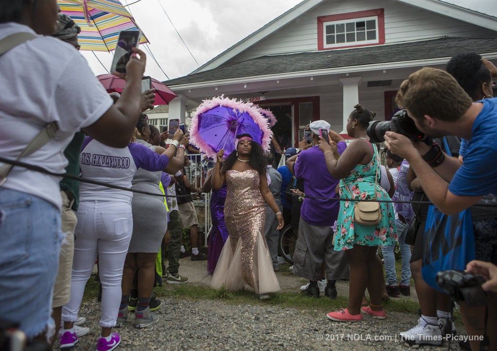
[[[320,130],[324,129],[326,134],[329,134],[330,124],[318,120],[312,122],[309,128],[313,132],[312,142],[315,146],[287,160],[290,172],[304,180],[306,195],[300,213],[299,237],[293,255],[293,272],[309,279],[309,285],[302,294],[319,297],[318,280],[323,276],[324,263],[328,277],[325,296],[335,299],[335,281],[348,278],[348,261],[343,252],[333,250],[331,229],[338,217],[340,205],[338,200],[330,198],[337,197],[335,188],[339,179],[333,178],[327,172],[325,157],[318,148]],[[345,141],[336,133],[332,134],[331,138],[337,143],[338,152],[341,154],[346,147]]]

